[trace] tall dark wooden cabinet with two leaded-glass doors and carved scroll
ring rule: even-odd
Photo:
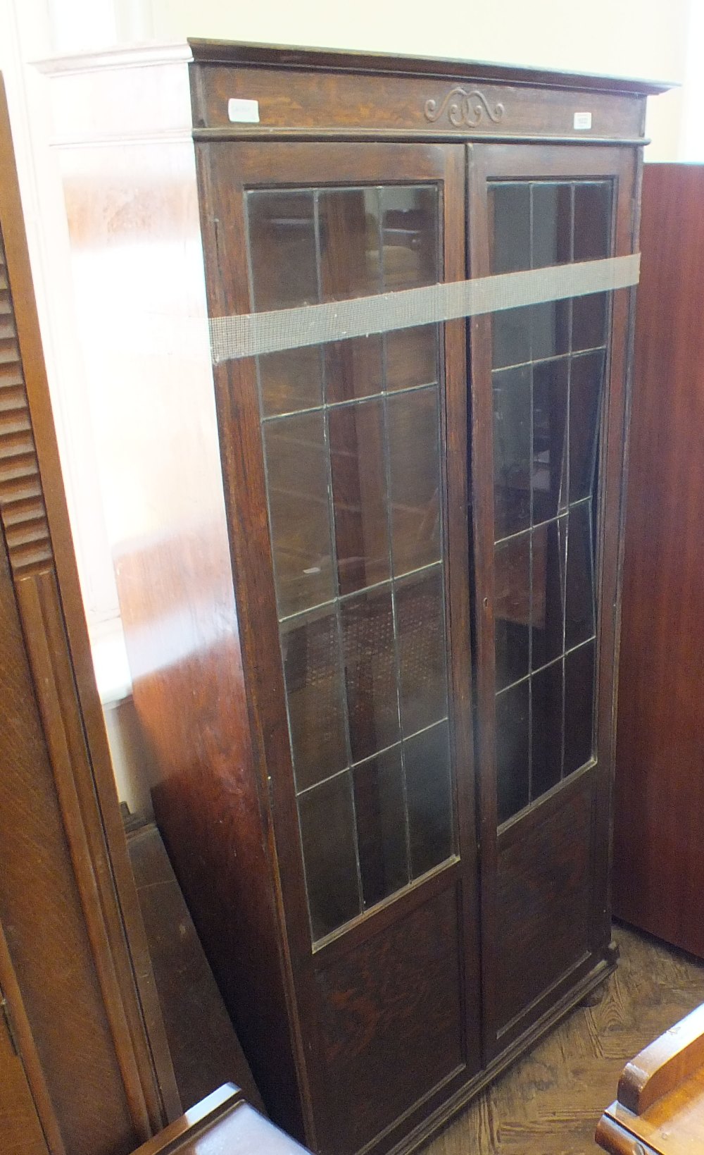
[[[627,255],[654,89],[83,64],[48,69],[157,822],[274,1120],[400,1153],[614,964],[631,292],[215,365],[207,319]]]

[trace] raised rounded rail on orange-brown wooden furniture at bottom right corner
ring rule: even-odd
[[[644,1048],[623,1068],[619,1103],[643,1115],[704,1063],[704,1004]]]

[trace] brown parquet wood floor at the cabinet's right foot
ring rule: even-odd
[[[628,1059],[704,1003],[704,962],[626,926],[604,997],[578,1007],[422,1155],[597,1155],[594,1128]]]

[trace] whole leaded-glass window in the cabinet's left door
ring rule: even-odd
[[[442,278],[437,185],[247,195],[255,310]],[[436,325],[257,360],[314,939],[451,852],[441,370]]]

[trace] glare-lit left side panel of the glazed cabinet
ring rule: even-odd
[[[267,1105],[300,1132],[252,769],[193,146],[66,148],[61,163],[155,812]]]

